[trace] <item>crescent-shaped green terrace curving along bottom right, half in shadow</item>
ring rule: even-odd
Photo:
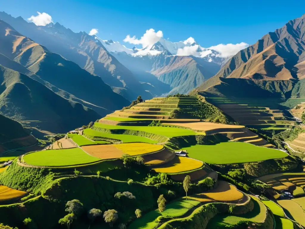
[[[251,212],[234,216],[229,213],[217,214],[213,217],[206,228],[225,228],[228,225],[238,224],[240,221],[251,221],[254,223],[262,223],[266,219],[266,206],[257,198],[253,199],[254,208]]]

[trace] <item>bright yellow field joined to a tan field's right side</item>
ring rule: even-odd
[[[114,146],[125,154],[131,156],[159,151],[164,147],[163,145],[154,145],[149,143],[123,143],[115,144]]]

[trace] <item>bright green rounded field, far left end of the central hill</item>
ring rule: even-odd
[[[27,164],[38,166],[78,165],[100,160],[85,153],[81,148],[37,151],[26,154],[23,159]]]

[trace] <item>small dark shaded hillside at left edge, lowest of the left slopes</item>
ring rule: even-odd
[[[20,123],[1,114],[0,123],[0,153],[23,146],[31,146],[37,142],[37,139],[30,135],[29,131],[24,129]]]

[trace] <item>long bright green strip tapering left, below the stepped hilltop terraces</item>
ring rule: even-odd
[[[129,130],[138,130],[144,131],[147,133],[159,134],[166,137],[177,137],[177,136],[186,136],[186,135],[196,135],[197,133],[182,128],[174,127],[163,127],[163,126],[118,126],[118,125],[106,125],[101,123],[95,123],[97,127],[105,129],[129,129]]]

